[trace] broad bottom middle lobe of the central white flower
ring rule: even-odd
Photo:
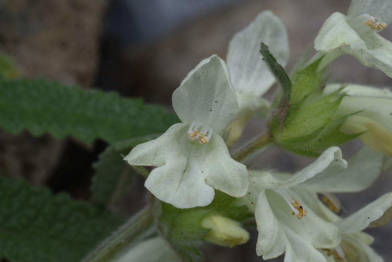
[[[171,155],[164,166],[151,171],[144,186],[158,199],[178,208],[207,206],[214,189],[204,182],[200,165],[184,155]]]

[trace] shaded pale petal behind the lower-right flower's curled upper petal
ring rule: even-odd
[[[383,155],[362,147],[348,160],[347,169],[339,176],[309,187],[315,192],[359,192],[368,188],[381,173]]]

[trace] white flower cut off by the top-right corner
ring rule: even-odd
[[[392,43],[378,33],[392,22],[392,1],[352,0],[347,16],[333,13],[321,27],[314,48],[337,57],[355,56],[392,77]]]

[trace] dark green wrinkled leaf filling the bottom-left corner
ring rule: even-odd
[[[122,219],[61,193],[0,176],[0,258],[78,262]]]

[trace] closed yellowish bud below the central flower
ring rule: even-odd
[[[221,215],[212,215],[201,221],[201,226],[211,230],[204,239],[224,247],[234,247],[249,240],[249,233],[241,224]]]

